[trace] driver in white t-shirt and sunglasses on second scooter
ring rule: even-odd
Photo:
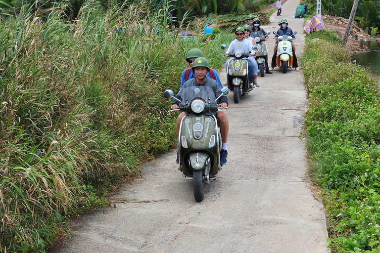
[[[247,41],[245,41],[245,39],[244,39],[244,29],[242,27],[238,27],[236,29],[235,35],[237,37],[236,40],[234,40],[230,43],[230,46],[228,47],[228,49],[224,55],[228,55],[230,52],[235,52],[238,49],[243,51],[243,53],[249,53],[252,50],[252,46],[251,46],[252,43],[247,43]],[[250,55],[253,56],[253,54],[251,54],[251,53],[250,53]],[[227,73],[228,63],[232,60],[232,58],[233,57],[228,59],[226,62],[226,73]],[[252,84],[251,73],[254,72],[253,71],[253,64],[251,61],[247,61],[247,62],[248,62],[248,83],[249,83],[249,88],[252,88],[253,84]],[[256,75],[257,75],[257,73],[256,73]]]

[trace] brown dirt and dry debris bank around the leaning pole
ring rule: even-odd
[[[327,29],[334,30],[341,38],[343,38],[348,25],[348,19],[328,15],[323,16],[323,21],[325,22]],[[352,24],[351,30],[352,35],[348,36],[347,47],[353,52],[364,52],[368,50],[366,46],[364,46],[363,48],[360,47],[361,39],[380,41],[380,38],[371,37],[369,34],[366,34],[366,32],[360,29],[355,22]],[[358,36],[358,40],[355,40],[355,35]]]

